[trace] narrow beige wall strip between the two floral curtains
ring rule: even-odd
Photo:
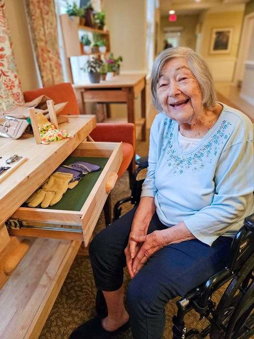
[[[9,0],[5,1],[5,7],[21,89],[24,92],[39,88],[41,84],[33,57],[24,3],[22,0]]]

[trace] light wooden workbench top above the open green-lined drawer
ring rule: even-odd
[[[33,134],[23,134],[19,139],[0,138],[0,155],[14,154],[27,159],[0,183],[0,225],[3,224],[66,157],[95,128],[93,118],[72,118],[69,123],[60,124],[74,138],[36,144]],[[7,165],[6,165],[7,166]],[[9,165],[10,166],[10,165]]]

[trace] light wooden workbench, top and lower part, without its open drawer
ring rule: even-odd
[[[70,118],[60,125],[72,139],[37,145],[32,135],[0,139],[0,155],[27,160],[0,183],[0,338],[36,339],[80,247],[80,241],[9,235],[5,220],[36,190],[95,127],[95,119]],[[3,265],[22,240],[30,249],[14,272]]]

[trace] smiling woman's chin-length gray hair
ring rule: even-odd
[[[155,59],[151,72],[151,92],[154,107],[162,112],[163,108],[157,95],[157,85],[159,82],[162,67],[174,58],[184,58],[199,83],[202,93],[202,104],[205,108],[212,109],[216,103],[216,92],[210,67],[205,58],[194,52],[189,47],[172,47],[162,51]]]

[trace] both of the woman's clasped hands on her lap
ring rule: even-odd
[[[129,242],[124,250],[128,271],[132,278],[146,264],[148,259],[160,248],[166,246],[164,230],[153,231],[150,234],[132,231]]]

